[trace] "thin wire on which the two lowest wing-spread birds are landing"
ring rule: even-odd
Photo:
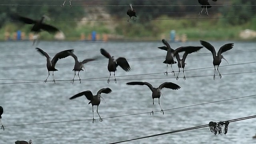
[[[176,109],[180,109],[180,108],[188,108],[188,107],[192,107],[192,106],[199,106],[199,105],[204,105],[204,104],[211,104],[211,103],[216,103],[216,102],[224,102],[224,101],[228,101],[228,100],[236,100],[236,99],[240,99],[240,98],[248,98],[248,97],[253,97],[256,96],[256,94],[254,95],[250,95],[250,96],[242,96],[242,97],[238,97],[238,98],[230,98],[230,99],[226,99],[226,100],[218,100],[218,101],[213,101],[213,102],[206,102],[206,103],[201,103],[201,104],[194,104],[194,105],[190,105],[190,106],[182,106],[182,107],[178,107],[178,108],[170,108],[170,109],[166,109],[164,111],[168,111],[168,110],[176,110]],[[155,111],[155,112],[160,112],[161,110]],[[126,115],[120,115],[120,116],[110,116],[110,117],[106,117],[106,118],[102,118],[102,119],[109,119],[109,118],[118,118],[118,117],[124,117],[124,116],[135,116],[135,115],[140,115],[140,114],[150,114],[150,112],[142,112],[142,113],[137,113],[137,114],[126,114]],[[28,126],[28,125],[37,125],[37,124],[53,124],[53,123],[62,123],[62,122],[79,122],[79,121],[88,121],[88,120],[92,120],[92,119],[85,119],[85,120],[66,120],[66,121],[57,121],[57,122],[40,122],[40,123],[33,123],[33,124],[15,124],[15,125],[9,125],[9,126],[4,126],[4,127],[11,127],[11,126]]]

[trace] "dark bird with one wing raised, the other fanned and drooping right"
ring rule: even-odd
[[[129,72],[131,70],[129,63],[127,62],[126,58],[119,57],[118,59],[115,59],[114,56],[111,56],[106,50],[103,48],[100,49],[100,53],[108,58],[108,71],[109,71],[109,78],[111,76],[111,72],[114,72],[114,81],[116,82],[116,67],[120,66],[124,71]],[[108,78],[108,84],[110,82]]]

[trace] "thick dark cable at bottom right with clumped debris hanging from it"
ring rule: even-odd
[[[237,121],[240,121],[240,120],[248,120],[248,119],[251,119],[251,118],[256,118],[256,115],[247,116],[247,117],[243,117],[243,118],[236,118],[236,119],[233,119],[233,120],[226,120],[226,121],[228,121],[228,122],[237,122]],[[187,130],[205,128],[205,127],[208,127],[208,126],[209,126],[209,124],[205,124],[205,125],[202,125],[202,126],[195,126],[195,127],[192,127],[192,128],[174,130],[174,131],[171,131],[171,132],[164,132],[164,133],[160,133],[160,134],[154,134],[154,135],[150,135],[150,136],[144,136],[144,137],[134,138],[134,139],[130,139],[130,140],[124,140],[124,141],[120,141],[120,142],[113,142],[113,143],[109,143],[109,144],[118,144],[118,143],[122,143],[122,142],[128,142],[128,141],[132,141],[132,140],[139,140],[139,139],[143,139],[143,138],[150,138],[150,137],[154,137],[154,136],[161,136],[161,135],[165,135],[165,134],[173,134],[173,133],[176,133],[176,132],[183,132],[183,131],[187,131]]]

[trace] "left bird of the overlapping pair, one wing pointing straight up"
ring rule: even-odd
[[[176,50],[172,49],[170,44],[168,42],[166,42],[166,40],[162,39],[162,43],[165,44],[166,46],[160,46],[158,47],[159,49],[161,50],[166,50],[167,53],[166,53],[166,57],[165,57],[165,60],[164,60],[164,64],[166,64],[166,72],[164,73],[166,76],[168,76],[168,64],[171,65],[171,68],[172,68],[172,64],[176,64],[177,62],[174,61],[174,57],[176,56],[176,54],[178,54],[179,52],[184,52],[186,50],[189,50],[190,47],[179,47],[177,48]],[[174,73],[174,70],[172,69],[172,73]],[[175,76],[175,73],[174,73],[174,76]]]

